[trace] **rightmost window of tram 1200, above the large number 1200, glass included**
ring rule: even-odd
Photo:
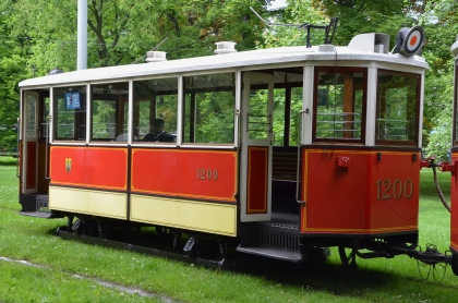
[[[420,75],[378,72],[377,144],[415,144]]]

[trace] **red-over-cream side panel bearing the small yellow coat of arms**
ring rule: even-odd
[[[128,148],[52,146],[49,208],[128,218]]]

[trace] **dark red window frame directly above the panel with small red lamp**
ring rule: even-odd
[[[318,126],[320,123],[322,121],[318,121],[318,106],[322,106],[322,101],[320,100],[321,98],[323,98],[323,90],[320,89],[320,75],[321,73],[328,73],[328,74],[335,74],[334,77],[336,75],[339,74],[361,74],[362,76],[361,78],[361,84],[358,86],[354,86],[354,82],[352,82],[352,93],[351,93],[351,100],[348,101],[348,94],[345,90],[345,85],[346,83],[343,82],[343,92],[341,94],[342,96],[342,105],[341,108],[345,109],[347,108],[349,105],[351,106],[351,114],[355,116],[357,109],[357,102],[360,102],[360,114],[361,114],[361,120],[360,121],[347,121],[345,123],[352,123],[353,125],[355,123],[360,124],[359,130],[357,130],[354,126],[352,129],[349,129],[348,131],[341,129],[341,130],[336,130],[336,120],[333,120],[333,132],[334,134],[341,134],[342,136],[329,136],[329,137],[323,137],[320,136],[318,133]],[[320,93],[322,92],[322,94]],[[361,94],[358,94],[358,92],[361,92]],[[357,100],[357,95],[360,96],[361,100]],[[325,96],[326,97],[326,96]],[[327,99],[328,101],[328,99]],[[312,141],[313,143],[328,143],[328,142],[342,142],[342,143],[358,143],[358,144],[365,144],[365,121],[366,121],[366,104],[367,104],[367,69],[364,68],[336,68],[336,66],[317,66],[315,68],[314,71],[314,89],[313,89],[313,131],[312,131]],[[337,108],[337,107],[335,107]],[[336,113],[338,113],[337,111],[334,111],[334,114],[336,116]],[[339,114],[340,117],[348,117],[348,112],[340,112],[341,114]],[[335,118],[333,118],[335,119]],[[326,122],[326,121],[323,121]],[[342,123],[343,123],[342,122]],[[342,124],[340,123],[340,124]],[[343,124],[342,124],[343,128]],[[352,133],[359,133],[359,137],[351,137],[349,134]]]

